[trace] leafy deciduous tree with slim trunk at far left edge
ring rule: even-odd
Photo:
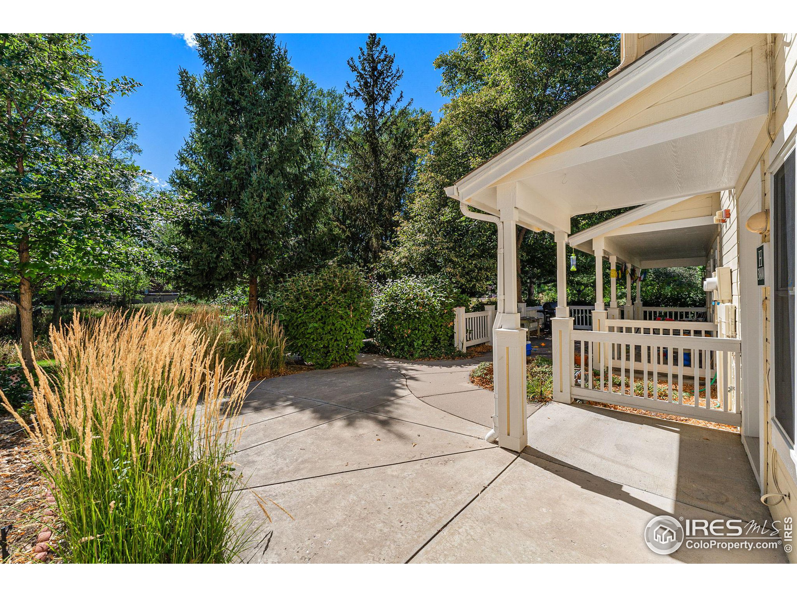
[[[0,279],[18,285],[22,354],[33,362],[33,293],[107,263],[109,230],[131,218],[119,205],[119,169],[87,140],[92,115],[137,86],[106,80],[83,34],[0,35]],[[124,171],[123,171],[124,170]]]

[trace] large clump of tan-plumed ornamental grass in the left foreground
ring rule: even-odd
[[[64,559],[236,560],[251,529],[234,520],[241,492],[231,431],[249,361],[225,366],[173,314],[77,315],[51,338],[55,373],[25,372],[32,423],[14,415],[53,487]]]

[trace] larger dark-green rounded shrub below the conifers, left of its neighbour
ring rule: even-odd
[[[355,267],[294,275],[273,301],[290,351],[319,369],[355,361],[371,312],[367,280]]]

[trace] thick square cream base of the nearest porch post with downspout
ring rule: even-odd
[[[493,330],[493,387],[498,445],[520,452],[528,445],[526,429],[526,330]],[[489,441],[490,434],[485,437]]]

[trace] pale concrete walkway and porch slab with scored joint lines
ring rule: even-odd
[[[778,550],[658,556],[643,541],[663,513],[768,520],[737,435],[548,404],[517,455],[482,439],[493,397],[468,383],[476,363],[367,356],[253,384],[236,462],[251,488],[241,514],[261,528],[245,560],[785,561]]]

